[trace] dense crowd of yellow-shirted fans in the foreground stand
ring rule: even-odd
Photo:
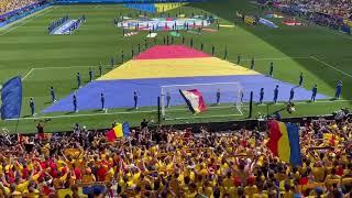
[[[0,139],[0,197],[351,197],[352,120],[300,127],[302,164],[265,146],[267,132],[139,130],[114,142],[72,133]]]

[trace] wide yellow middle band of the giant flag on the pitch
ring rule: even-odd
[[[258,75],[258,73],[217,57],[133,59],[98,80],[229,75]]]

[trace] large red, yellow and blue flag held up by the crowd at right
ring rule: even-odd
[[[298,127],[294,123],[270,121],[270,140],[266,146],[282,161],[300,165],[300,146]]]

